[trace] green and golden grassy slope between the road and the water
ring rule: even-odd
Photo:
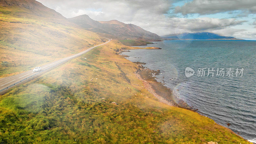
[[[0,142],[248,143],[156,100],[136,78],[136,64],[116,53],[125,48],[113,40],[1,96]]]

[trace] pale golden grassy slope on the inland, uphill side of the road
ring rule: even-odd
[[[0,7],[0,77],[81,52],[103,43],[97,34],[66,22]],[[26,15],[26,20],[20,14]]]

